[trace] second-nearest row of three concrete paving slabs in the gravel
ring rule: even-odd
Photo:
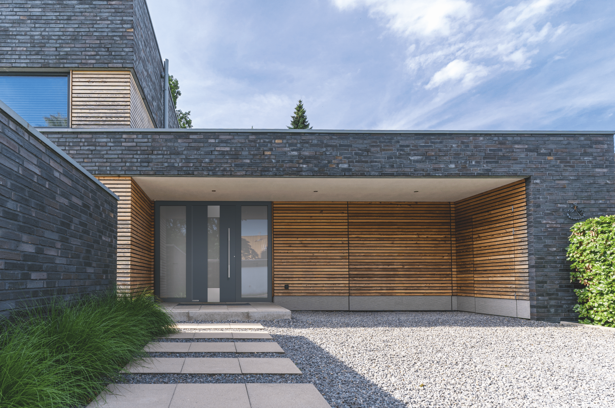
[[[290,358],[151,358],[124,369],[132,374],[301,374]]]

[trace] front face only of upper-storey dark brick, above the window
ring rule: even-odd
[[[132,0],[0,2],[0,66],[132,68]]]

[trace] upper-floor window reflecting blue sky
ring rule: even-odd
[[[0,100],[30,125],[68,127],[66,75],[0,75]]]

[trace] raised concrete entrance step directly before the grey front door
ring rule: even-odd
[[[162,303],[175,321],[225,321],[225,320],[279,320],[290,319],[290,310],[270,302],[249,302],[245,304],[178,305]]]

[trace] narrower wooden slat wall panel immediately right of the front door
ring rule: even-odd
[[[275,295],[347,296],[346,202],[274,202],[273,233]]]

